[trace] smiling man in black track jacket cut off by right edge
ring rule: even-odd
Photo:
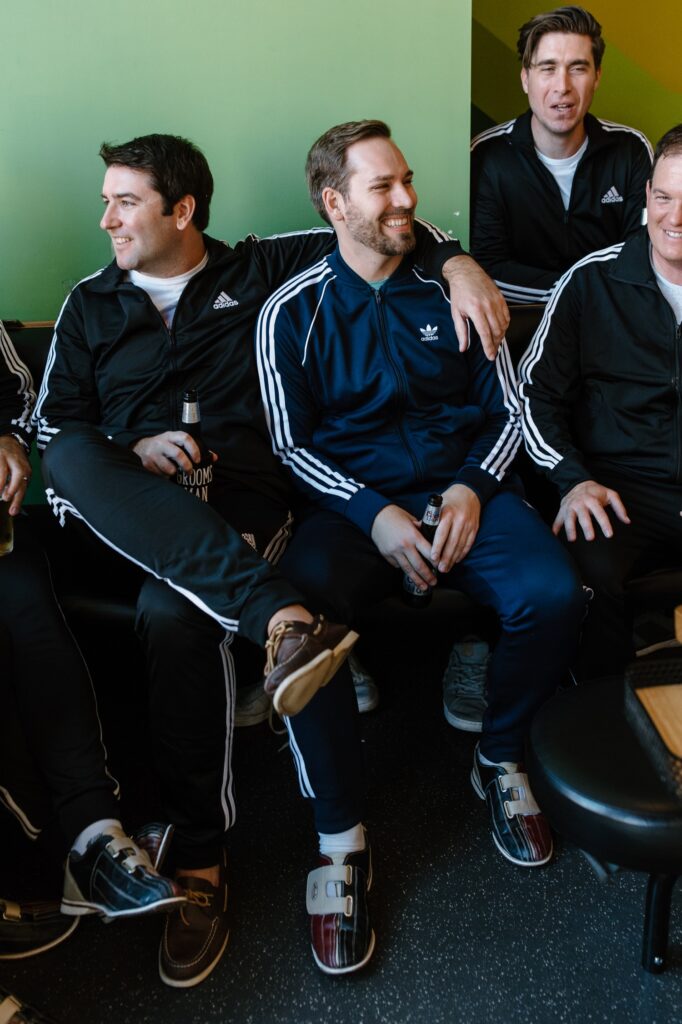
[[[682,564],[682,125],[658,143],[647,227],[565,274],[520,365],[525,444],[556,483],[594,600],[581,675],[632,657],[627,580]]]

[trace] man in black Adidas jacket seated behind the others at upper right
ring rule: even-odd
[[[601,76],[601,27],[581,7],[519,32],[530,109],[471,145],[471,250],[510,302],[547,302],[576,260],[642,223],[651,147],[588,110]]]

